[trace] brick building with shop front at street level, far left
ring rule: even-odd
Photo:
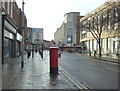
[[[4,58],[15,58],[20,54],[22,41],[21,15],[22,11],[15,1],[2,2],[2,60]],[[26,26],[27,22],[25,22]]]

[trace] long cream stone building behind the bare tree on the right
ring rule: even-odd
[[[80,19],[84,51],[117,58],[120,54],[120,2],[106,2]],[[100,41],[100,45],[99,45]]]

